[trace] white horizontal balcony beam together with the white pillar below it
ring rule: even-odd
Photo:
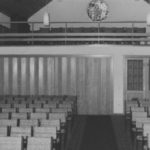
[[[113,58],[113,84],[114,84],[114,113],[123,113],[123,77],[124,56],[147,55],[150,48],[147,46],[44,46],[44,47],[0,47],[0,55],[109,55]]]

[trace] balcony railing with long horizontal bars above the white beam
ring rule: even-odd
[[[1,22],[0,45],[150,44],[146,22]]]

